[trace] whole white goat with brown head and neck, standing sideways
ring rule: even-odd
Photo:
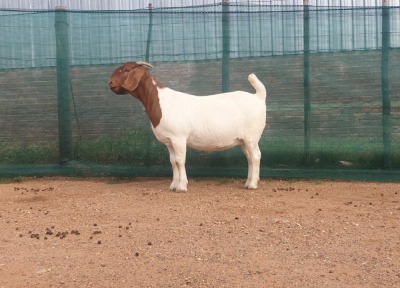
[[[237,145],[248,160],[245,187],[256,189],[261,159],[258,142],[266,122],[266,90],[257,77],[254,74],[248,77],[255,94],[236,91],[194,96],[164,87],[146,66],[149,64],[129,62],[117,68],[111,76],[110,88],[117,94],[132,94],[145,106],[154,135],[170,154],[173,169],[170,189],[187,191],[186,146],[217,151]]]

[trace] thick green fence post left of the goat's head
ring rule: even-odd
[[[56,7],[56,58],[57,58],[57,100],[58,100],[58,137],[60,163],[73,159],[71,125],[71,70],[69,51],[69,24],[65,7]]]

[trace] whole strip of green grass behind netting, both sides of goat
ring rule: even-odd
[[[302,137],[265,137],[260,143],[262,165],[270,168],[307,168]],[[313,168],[379,169],[382,167],[380,139],[360,137],[319,137],[311,141]],[[400,167],[400,153],[392,149],[392,167]],[[169,166],[164,145],[144,132],[75,141],[75,160],[84,163],[119,166]],[[57,164],[57,144],[0,145],[0,164]],[[239,147],[222,152],[188,149],[187,165],[197,167],[246,167]]]

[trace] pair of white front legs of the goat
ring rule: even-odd
[[[185,169],[186,141],[171,141],[167,147],[173,172],[172,183],[169,189],[176,192],[186,192],[188,184]]]

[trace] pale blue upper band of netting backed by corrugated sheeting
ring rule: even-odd
[[[231,58],[303,53],[303,6],[225,6],[230,15]],[[152,61],[218,60],[224,52],[222,8],[213,5],[134,12],[70,11],[71,65],[142,59],[146,49]],[[311,52],[380,49],[380,7],[328,8],[309,8]],[[54,11],[0,13],[4,28],[0,67],[55,66]],[[398,48],[398,7],[392,8],[389,21],[390,47]]]

